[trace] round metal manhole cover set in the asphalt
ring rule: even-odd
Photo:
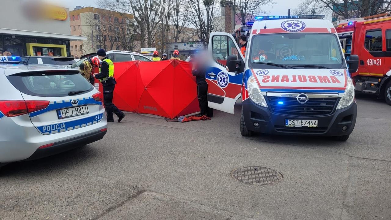
[[[232,171],[235,180],[253,185],[271,185],[282,180],[282,174],[262,166],[246,166]]]

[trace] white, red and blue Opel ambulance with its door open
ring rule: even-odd
[[[324,16],[257,16],[246,53],[233,36],[210,34],[206,69],[208,105],[234,113],[241,97],[240,132],[332,136],[346,141],[357,105],[350,72],[334,25]]]

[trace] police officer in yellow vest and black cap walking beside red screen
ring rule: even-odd
[[[113,61],[111,61],[106,56],[106,51],[104,49],[99,49],[97,52],[97,55],[100,60],[102,60],[100,73],[94,74],[96,79],[99,79],[99,81],[103,85],[103,104],[106,107],[107,112],[107,121],[113,122],[113,113],[117,115],[118,122],[120,122],[124,117],[125,114],[121,112],[117,106],[113,104],[113,92],[115,84],[117,83],[114,79],[114,64]]]

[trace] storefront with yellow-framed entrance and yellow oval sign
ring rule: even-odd
[[[7,10],[0,14],[0,20],[13,17],[13,22],[2,23],[0,27],[0,56],[70,56],[70,41],[87,40],[70,34],[66,8],[51,6],[47,10],[54,13],[37,18],[30,13],[36,9],[26,5],[26,1],[4,0],[2,6]]]

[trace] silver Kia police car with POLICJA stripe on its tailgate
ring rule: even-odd
[[[79,71],[0,57],[0,166],[98,141],[102,94]]]

